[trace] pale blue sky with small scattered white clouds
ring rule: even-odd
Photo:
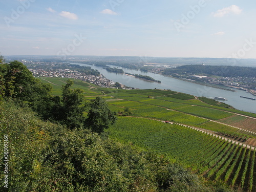
[[[2,55],[256,58],[255,0],[0,0]]]

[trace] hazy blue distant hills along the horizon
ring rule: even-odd
[[[6,56],[8,61],[13,60],[37,60],[37,61],[59,61],[59,62],[77,62],[80,63],[97,63],[97,62],[108,62],[108,65],[118,65],[122,67],[130,68],[129,65],[143,66],[145,63],[159,63],[164,65],[213,65],[213,66],[246,66],[254,67],[256,66],[256,59],[236,59],[236,58],[195,58],[195,57],[129,57],[129,56],[69,56],[69,58],[62,56]]]

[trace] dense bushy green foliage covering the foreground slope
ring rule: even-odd
[[[9,191],[214,191],[165,157],[43,122],[12,102],[0,107],[0,135],[9,139]],[[0,188],[5,191],[3,182]]]

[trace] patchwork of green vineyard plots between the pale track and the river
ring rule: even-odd
[[[43,82],[51,82],[51,85],[53,86],[52,94],[59,96],[61,95],[61,86],[65,84],[65,81],[67,81],[67,78],[41,77],[40,79]],[[111,88],[95,87],[94,84],[83,82],[77,79],[72,80],[74,81],[72,89],[82,89],[84,96],[89,100],[95,99],[97,96],[101,96],[106,100],[110,100],[108,101],[108,104],[110,106],[113,105],[112,109],[115,112],[123,111],[124,108],[129,108],[133,116],[155,118],[191,126],[198,126],[202,127],[203,129],[218,131],[221,133],[237,134],[237,130],[234,131],[234,129],[230,129],[227,131],[229,126],[209,122],[209,120],[221,120],[225,119],[226,117],[230,117],[233,114],[228,113],[229,111],[235,111],[236,113],[242,114],[246,113],[250,116],[256,115],[238,110],[227,109],[217,105],[211,105],[216,104],[216,101],[203,98],[203,101],[207,101],[209,103],[207,104],[199,99],[195,99],[194,96],[177,93],[174,91],[151,89],[117,90]],[[91,89],[91,87],[95,88]],[[122,100],[116,101],[115,99]],[[241,119],[245,118],[242,116],[239,117],[241,117]],[[229,124],[229,122],[225,123]],[[247,133],[244,134],[246,136]]]

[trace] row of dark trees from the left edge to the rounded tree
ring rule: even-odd
[[[72,89],[72,80],[62,86],[62,96],[52,96],[52,86],[33,77],[19,61],[0,65],[1,97],[11,97],[27,103],[42,119],[59,122],[70,129],[87,128],[102,133],[116,117],[101,97],[85,105],[81,89]],[[88,118],[84,115],[89,110]]]

